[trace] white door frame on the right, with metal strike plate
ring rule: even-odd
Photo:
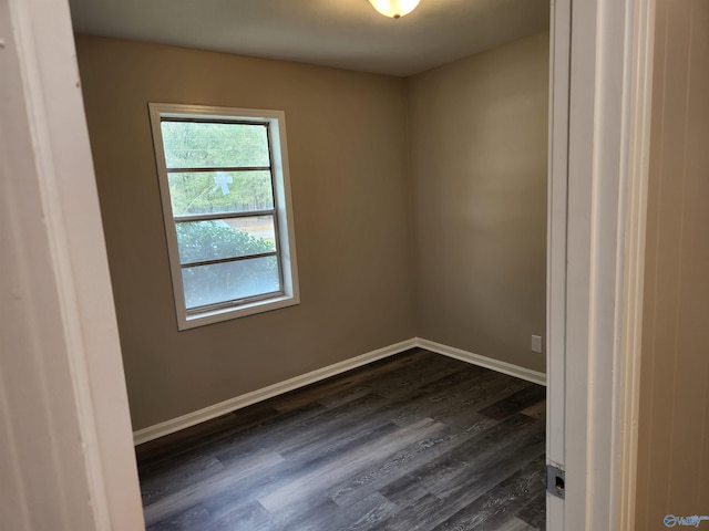
[[[634,529],[654,0],[552,2],[547,529]]]

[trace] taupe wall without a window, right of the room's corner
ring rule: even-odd
[[[548,33],[409,80],[421,337],[545,369]]]

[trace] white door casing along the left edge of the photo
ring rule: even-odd
[[[0,0],[0,528],[143,529],[68,1]]]

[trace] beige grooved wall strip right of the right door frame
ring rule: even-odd
[[[709,2],[657,0],[654,75],[638,530],[709,516]]]

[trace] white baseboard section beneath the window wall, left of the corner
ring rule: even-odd
[[[285,382],[280,382],[278,384],[269,385],[268,387],[264,387],[261,389],[253,391],[251,393],[246,393],[245,395],[240,395],[235,398],[229,398],[228,400],[207,406],[203,409],[188,413],[181,417],[165,420],[164,423],[148,426],[147,428],[138,429],[137,431],[133,433],[133,444],[137,446],[143,442],[147,442],[148,440],[174,434],[175,431],[179,431],[181,429],[185,429],[199,423],[219,417],[227,413],[232,413],[236,409],[250,406],[251,404],[256,404],[257,402],[273,398],[274,396],[281,395],[284,393],[288,393],[289,391],[294,391],[315,382],[329,378],[330,376],[336,376],[347,371],[351,371],[352,368],[357,368],[362,365],[367,365],[368,363],[376,362],[377,360],[382,360],[384,357],[399,354],[400,352],[408,351],[409,348],[413,348],[414,346],[417,346],[415,339],[402,341],[400,343],[395,343],[393,345],[384,346],[383,348],[378,348],[367,354],[362,354],[361,356],[352,357],[333,365],[328,365],[327,367],[318,368],[317,371],[312,371],[301,376],[296,376],[295,378],[286,379]]]

